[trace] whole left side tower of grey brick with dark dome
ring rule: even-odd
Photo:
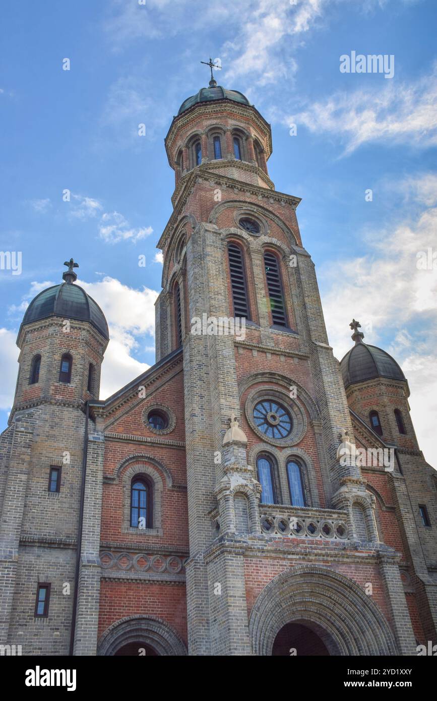
[[[68,655],[83,494],[86,404],[99,396],[109,341],[73,259],[18,332],[18,381],[1,436],[1,642]],[[44,613],[50,600],[50,618]]]

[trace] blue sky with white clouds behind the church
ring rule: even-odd
[[[163,139],[181,102],[207,85],[200,61],[211,55],[219,84],[272,124],[276,188],[303,198],[335,354],[358,318],[365,340],[401,363],[419,442],[437,463],[437,271],[417,268],[419,252],[437,252],[436,15],[434,0],[4,5],[0,248],[22,252],[22,273],[0,271],[0,428],[22,314],[71,256],[109,321],[102,396],[154,362],[155,245],[174,186]],[[393,78],[341,73],[352,51],[394,55]]]

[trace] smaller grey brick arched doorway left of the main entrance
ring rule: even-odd
[[[176,655],[187,654],[179,635],[165,621],[145,615],[128,616],[109,626],[99,640],[97,655]]]

